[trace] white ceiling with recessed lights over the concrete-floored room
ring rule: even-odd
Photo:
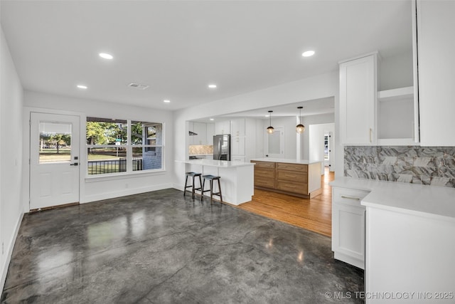
[[[410,0],[1,0],[1,24],[26,90],[168,110],[328,73],[370,51],[412,50]],[[302,57],[308,49],[316,55]]]

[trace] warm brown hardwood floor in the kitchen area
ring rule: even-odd
[[[322,194],[313,199],[255,189],[252,201],[238,207],[270,219],[298,226],[310,231],[331,236],[332,234],[332,189],[333,172],[321,176]]]

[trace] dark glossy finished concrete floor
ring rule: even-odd
[[[165,189],[26,214],[1,303],[362,303],[361,291],[330,238]]]

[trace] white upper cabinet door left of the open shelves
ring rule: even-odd
[[[373,53],[340,63],[340,134],[344,145],[376,142],[377,58]]]

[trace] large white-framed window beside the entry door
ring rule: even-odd
[[[161,122],[87,117],[88,175],[162,169],[163,135]]]

